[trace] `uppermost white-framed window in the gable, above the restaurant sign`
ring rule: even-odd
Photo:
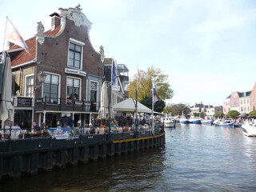
[[[85,44],[75,39],[70,39],[67,66],[82,70],[82,50]]]

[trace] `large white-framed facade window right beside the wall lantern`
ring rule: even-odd
[[[47,74],[43,83],[43,96],[47,103],[58,103],[59,75]]]

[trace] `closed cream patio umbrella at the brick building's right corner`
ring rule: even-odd
[[[110,90],[108,88],[108,82],[105,81],[102,84],[102,92],[101,92],[101,106],[98,110],[98,118],[113,118],[113,108],[110,98]],[[110,114],[109,114],[110,113]]]

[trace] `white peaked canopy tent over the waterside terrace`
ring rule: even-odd
[[[115,111],[135,112],[135,103],[136,101],[133,98],[127,98],[122,102],[118,102],[117,104],[114,104],[112,107],[113,107],[113,110]],[[140,102],[138,102],[137,109],[138,109],[138,113],[152,114],[152,110],[142,105],[142,103]]]

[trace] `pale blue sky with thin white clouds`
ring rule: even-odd
[[[151,66],[168,75],[167,104],[221,106],[256,82],[255,0],[2,0],[0,50],[6,17],[28,39],[37,22],[50,30],[50,14],[78,4],[93,23],[94,49],[104,46],[131,80]]]

